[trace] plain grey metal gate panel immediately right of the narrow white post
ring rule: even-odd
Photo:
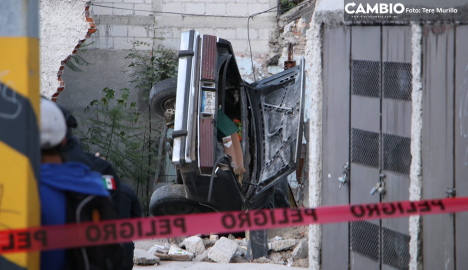
[[[444,24],[423,28],[424,199],[446,197],[454,184],[454,30]],[[425,268],[454,269],[453,217],[423,217]]]

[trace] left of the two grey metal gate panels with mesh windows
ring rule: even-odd
[[[376,134],[380,141],[381,27],[352,26],[351,36],[351,159],[359,162],[350,164],[350,202],[377,203],[379,196],[369,193],[379,179],[372,160],[375,151],[369,160],[361,154],[373,149],[365,148],[364,141],[375,141]],[[375,228],[380,228],[380,221],[351,223],[351,269],[380,269],[380,230]]]

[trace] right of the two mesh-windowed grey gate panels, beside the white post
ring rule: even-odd
[[[410,196],[411,54],[410,26],[382,28],[382,202]],[[408,268],[409,240],[408,218],[382,220],[382,270]]]

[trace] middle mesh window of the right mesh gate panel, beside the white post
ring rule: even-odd
[[[410,174],[411,138],[383,134],[384,170]]]

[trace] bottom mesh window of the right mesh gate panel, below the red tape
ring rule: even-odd
[[[410,236],[382,228],[382,263],[406,270],[410,263]]]

